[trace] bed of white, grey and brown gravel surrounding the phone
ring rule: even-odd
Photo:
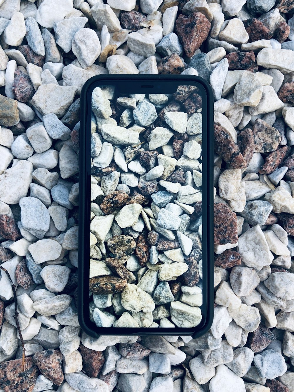
[[[0,262],[26,354],[22,371],[1,270],[1,392],[294,391],[293,11],[294,0],[0,0]],[[216,294],[199,339],[93,339],[78,325],[79,94],[107,73],[198,74],[213,89]]]

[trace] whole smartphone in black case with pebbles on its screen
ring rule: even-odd
[[[191,335],[213,318],[213,98],[191,75],[81,93],[78,317],[90,336]]]

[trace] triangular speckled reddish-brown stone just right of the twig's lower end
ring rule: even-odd
[[[33,361],[43,376],[49,378],[50,381],[58,386],[64,380],[61,367],[62,359],[61,351],[52,349],[36,352],[33,356]]]

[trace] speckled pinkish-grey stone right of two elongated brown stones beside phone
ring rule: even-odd
[[[271,127],[265,121],[258,118],[252,127],[254,136],[254,152],[276,151],[281,142],[278,129]]]

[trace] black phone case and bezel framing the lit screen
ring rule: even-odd
[[[207,160],[203,160],[202,185],[202,217],[207,222],[207,230],[203,230],[202,247],[203,265],[203,319],[195,328],[99,328],[89,319],[89,253],[85,249],[85,238],[90,233],[90,214],[88,213],[90,198],[91,171],[87,167],[87,157],[91,156],[91,96],[92,91],[99,85],[123,83],[126,93],[162,93],[158,91],[157,83],[161,81],[170,84],[200,84],[207,96],[206,113],[203,116],[203,145],[207,146]],[[174,83],[173,83],[174,82]],[[136,87],[134,87],[136,85]],[[152,87],[151,87],[152,86]],[[154,89],[155,88],[155,89]],[[136,90],[136,91],[135,91]],[[141,91],[140,91],[141,90]],[[124,91],[125,92],[125,91]],[[164,91],[163,93],[168,93]],[[214,100],[211,87],[203,78],[193,75],[98,75],[93,76],[84,84],[80,96],[80,202],[79,202],[79,247],[78,247],[78,320],[81,328],[89,336],[98,338],[100,335],[191,335],[193,339],[205,334],[212,325],[214,311],[214,248],[213,248],[213,166],[214,166],[214,137],[213,114]],[[89,132],[90,131],[90,132]],[[90,136],[90,138],[89,138]],[[89,142],[90,140],[90,142]],[[90,168],[91,169],[91,168]],[[205,260],[205,261],[204,261]],[[206,296],[204,293],[206,292]],[[93,326],[93,328],[91,328]]]

